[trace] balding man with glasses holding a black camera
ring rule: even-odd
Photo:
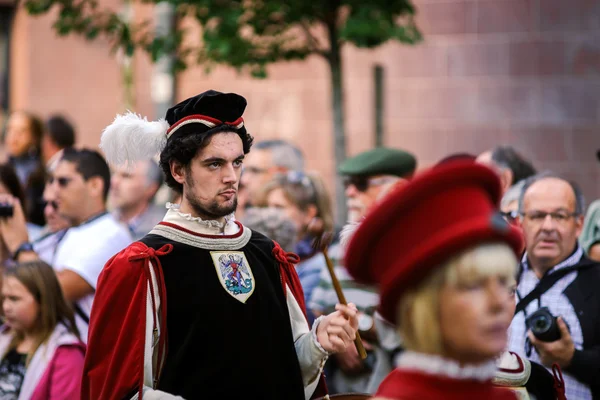
[[[564,375],[568,399],[600,398],[600,265],[577,238],[584,200],[574,182],[544,173],[519,197],[525,238],[509,350]]]

